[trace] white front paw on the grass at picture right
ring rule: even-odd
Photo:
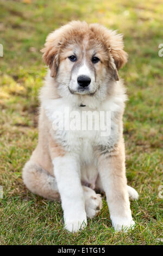
[[[129,229],[133,229],[135,226],[135,222],[132,217],[123,218],[123,217],[111,217],[112,226],[115,231],[124,231],[127,232]]]

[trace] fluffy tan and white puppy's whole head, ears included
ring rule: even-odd
[[[80,21],[49,34],[41,51],[58,89],[73,95],[106,94],[127,62],[121,34]]]

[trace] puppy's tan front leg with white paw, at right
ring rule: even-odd
[[[127,191],[123,142],[114,150],[101,152],[98,168],[113,227],[116,231],[131,228],[135,222]]]

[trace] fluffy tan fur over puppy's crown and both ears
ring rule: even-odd
[[[115,31],[108,31],[105,27],[98,24],[87,25],[86,22],[72,21],[68,25],[57,29],[47,36],[43,59],[51,69],[51,76],[57,75],[60,58],[64,56],[65,48],[70,44],[82,44],[83,40],[89,42],[89,47],[96,45],[97,51],[102,53],[103,61],[112,66],[112,58],[115,61],[117,70],[127,62],[127,53],[123,50],[122,35]],[[105,52],[104,50],[105,49]],[[118,80],[117,70],[115,77]]]

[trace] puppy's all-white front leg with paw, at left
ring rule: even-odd
[[[76,157],[67,154],[56,157],[53,165],[64,211],[65,228],[77,232],[87,224],[79,162]]]

